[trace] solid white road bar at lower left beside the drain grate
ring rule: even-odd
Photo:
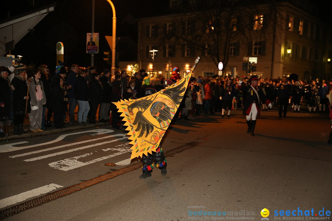
[[[60,185],[57,185],[57,184],[49,184],[49,185],[46,185],[46,186],[43,186],[43,187],[39,187],[39,188],[36,188],[36,189],[33,189],[33,190],[29,190],[27,192],[19,193],[17,195],[1,199],[0,200],[0,208],[6,207],[6,206],[9,206],[9,205],[13,205],[13,204],[18,203],[18,202],[22,202],[22,201],[27,200],[31,197],[38,196],[38,195],[43,194],[43,193],[48,193],[48,192],[51,192],[52,190],[55,190],[55,189],[61,188],[61,187],[63,187],[63,186],[60,186]]]

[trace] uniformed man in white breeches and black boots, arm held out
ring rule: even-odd
[[[265,97],[262,88],[257,86],[257,83],[257,75],[252,76],[247,85],[242,85],[242,79],[238,83],[238,88],[244,93],[243,115],[246,115],[247,133],[250,133],[251,136],[255,136],[256,116],[260,114],[259,99],[262,99],[269,105],[269,108],[272,108],[271,101]]]

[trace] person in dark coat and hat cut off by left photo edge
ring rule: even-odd
[[[0,121],[13,119],[13,84],[10,82],[8,68],[0,67]],[[5,122],[7,124],[7,122]],[[8,131],[4,131],[8,134]]]

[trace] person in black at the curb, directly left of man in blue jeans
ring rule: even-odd
[[[66,106],[68,98],[65,96],[67,92],[65,86],[63,85],[63,79],[58,75],[57,78],[53,79],[52,86],[52,110],[53,110],[53,122],[54,127],[61,129],[63,126],[63,117],[66,113]]]

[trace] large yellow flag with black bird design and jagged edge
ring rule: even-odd
[[[126,130],[129,131],[131,139],[129,144],[132,144],[131,159],[156,151],[179,108],[199,59],[198,57],[195,60],[193,68],[185,78],[170,87],[135,100],[113,102],[122,113],[120,116],[124,117],[124,126],[128,126]]]

